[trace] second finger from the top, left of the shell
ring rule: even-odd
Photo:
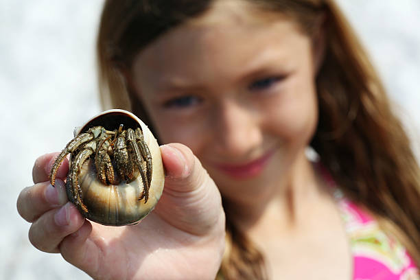
[[[26,187],[19,194],[16,207],[23,219],[34,222],[46,211],[65,205],[67,201],[65,183],[58,179],[56,187],[49,182]]]

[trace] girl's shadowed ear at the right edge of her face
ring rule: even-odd
[[[326,48],[326,30],[325,30],[325,14],[320,16],[316,23],[316,29],[312,34],[312,56],[314,58],[314,73],[318,74],[320,67],[323,65],[325,59]]]

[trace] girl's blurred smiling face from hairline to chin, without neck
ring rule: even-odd
[[[191,148],[225,197],[255,199],[305,159],[316,63],[295,23],[242,2],[216,1],[161,36],[130,82],[163,143]]]

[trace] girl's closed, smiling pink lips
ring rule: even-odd
[[[245,164],[219,164],[215,166],[233,178],[251,178],[261,174],[274,152],[275,150],[270,150],[258,159],[249,161]]]

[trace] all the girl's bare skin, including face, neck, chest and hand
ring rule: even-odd
[[[156,209],[139,226],[83,220],[62,187],[68,162],[54,189],[55,154],[47,154],[17,201],[32,244],[95,279],[214,279],[226,211],[264,253],[273,279],[349,279],[338,211],[305,157],[321,39],[242,1],[217,1],[161,36],[126,77],[161,141],[172,143],[161,147],[167,178]]]

